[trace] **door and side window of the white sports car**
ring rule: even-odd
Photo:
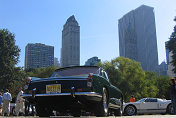
[[[158,110],[158,107],[159,105],[156,98],[147,98],[140,104],[140,109],[144,112],[155,112]]]

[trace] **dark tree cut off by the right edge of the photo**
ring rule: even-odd
[[[176,21],[176,17],[174,19]],[[168,44],[166,47],[169,49],[169,52],[172,52],[172,61],[170,62],[173,65],[173,72],[176,73],[176,25],[174,26],[174,31],[172,32]]]

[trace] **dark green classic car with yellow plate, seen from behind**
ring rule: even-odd
[[[107,73],[97,66],[73,66],[56,70],[50,78],[28,77],[23,97],[36,103],[39,116],[52,111],[80,116],[81,110],[96,116],[110,112],[121,115],[123,95],[113,86]]]

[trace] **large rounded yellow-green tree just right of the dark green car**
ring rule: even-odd
[[[140,63],[118,57],[111,62],[102,63],[101,66],[108,72],[111,83],[120,88],[126,101],[131,95],[141,97],[145,73]]]

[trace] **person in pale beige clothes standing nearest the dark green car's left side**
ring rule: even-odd
[[[22,111],[22,113],[24,115],[24,99],[22,98],[22,95],[23,95],[23,90],[22,90],[22,87],[20,87],[19,93],[17,95],[16,107],[15,107],[15,112],[16,112],[17,116],[19,116],[20,110]]]

